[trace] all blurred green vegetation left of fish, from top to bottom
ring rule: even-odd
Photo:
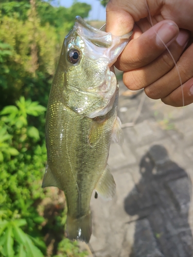
[[[105,5],[107,1],[101,1]],[[64,36],[76,15],[41,0],[0,3],[0,257],[87,256],[65,237],[66,206],[42,189],[45,111]]]

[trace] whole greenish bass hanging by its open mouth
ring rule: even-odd
[[[111,140],[121,144],[124,137],[113,64],[131,35],[114,36],[77,16],[62,45],[47,105],[42,187],[64,191],[70,240],[90,241],[93,191],[107,199],[115,194],[107,160]]]

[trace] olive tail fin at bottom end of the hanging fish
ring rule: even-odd
[[[73,218],[67,214],[67,235],[70,240],[80,240],[89,243],[92,234],[91,213],[80,218]]]

